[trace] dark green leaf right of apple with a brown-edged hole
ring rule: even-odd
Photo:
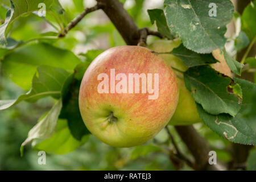
[[[241,98],[233,92],[234,81],[208,66],[189,68],[184,81],[195,101],[210,114],[235,116],[241,108]]]

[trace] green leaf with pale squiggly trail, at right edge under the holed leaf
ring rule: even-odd
[[[256,85],[252,82],[234,78],[242,88],[243,102],[236,117],[228,114],[212,115],[197,104],[197,111],[205,125],[218,135],[234,143],[256,144]]]

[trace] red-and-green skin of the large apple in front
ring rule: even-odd
[[[113,68],[115,75],[159,73],[159,97],[148,100],[151,94],[142,94],[141,89],[137,94],[98,93],[101,80],[97,76],[106,73],[110,79]],[[161,57],[148,48],[119,46],[104,51],[89,65],[80,86],[79,107],[86,127],[98,139],[114,147],[132,147],[147,142],[167,125],[178,98],[175,73]],[[110,122],[113,116],[116,119]]]

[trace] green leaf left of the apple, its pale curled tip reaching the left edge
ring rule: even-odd
[[[60,98],[61,90],[69,75],[71,73],[64,69],[48,66],[38,67],[38,76],[35,73],[30,91],[16,100],[0,100],[0,110],[7,109],[21,101],[35,102],[39,98],[47,96]]]

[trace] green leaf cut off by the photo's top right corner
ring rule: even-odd
[[[241,17],[242,30],[246,32],[250,40],[256,36],[256,1],[249,3],[243,10]]]

